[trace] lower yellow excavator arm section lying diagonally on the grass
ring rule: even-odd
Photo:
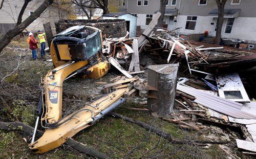
[[[59,147],[66,142],[67,137],[71,138],[80,130],[91,126],[94,123],[94,118],[97,118],[102,111],[117,102],[125,92],[126,88],[118,89],[113,93],[104,95],[92,104],[75,111],[63,119],[63,121],[67,120],[67,122],[57,128],[46,129],[44,135],[39,140],[29,144],[29,148],[34,153],[44,153]]]

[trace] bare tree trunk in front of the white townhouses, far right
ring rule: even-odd
[[[215,44],[220,44],[221,42],[221,30],[224,20],[224,6],[227,0],[215,0],[218,6],[218,19],[217,19],[217,31],[216,31],[216,41]]]

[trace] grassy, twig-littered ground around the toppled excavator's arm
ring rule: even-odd
[[[40,81],[47,72],[53,69],[48,60],[49,53],[45,58],[32,60],[31,51],[27,49],[25,38],[12,41],[9,48],[0,53],[0,80],[3,80],[0,90],[0,109],[2,122],[20,121],[34,126],[35,109],[39,101]],[[39,50],[38,56],[39,56]],[[151,61],[151,62],[150,62]],[[154,63],[147,59],[146,63]],[[18,66],[19,65],[19,66]],[[18,66],[18,67],[17,67]],[[16,69],[17,68],[17,69]],[[110,83],[120,73],[111,71],[101,79],[70,78],[63,84],[63,109],[65,114],[72,107],[81,107],[86,102],[101,95],[97,88],[102,84],[95,82]],[[140,75],[146,79],[146,74]],[[211,141],[227,142],[226,144],[172,144],[163,137],[152,131],[147,131],[136,124],[105,116],[96,125],[77,133],[73,139],[89,147],[101,151],[113,158],[238,158],[243,157],[236,146],[235,139],[240,134],[226,128],[203,125],[200,122],[200,130],[182,128],[178,124],[169,123],[156,118],[150,111],[142,110],[146,105],[139,102],[145,101],[140,97],[134,97],[130,102],[122,104],[114,110],[129,118],[150,124],[160,130],[172,134],[173,139],[179,141]],[[175,103],[175,113],[180,113],[182,107]],[[134,109],[139,108],[139,109]],[[170,116],[165,118],[171,119]],[[40,130],[44,130],[39,127]],[[33,154],[26,140],[31,135],[17,131],[0,130],[0,153],[1,157],[8,158],[84,158],[82,154],[69,145],[46,152],[45,154]]]

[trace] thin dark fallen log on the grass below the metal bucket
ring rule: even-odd
[[[162,130],[159,130],[159,129],[155,128],[154,126],[146,124],[146,123],[144,123],[142,121],[134,120],[134,119],[125,117],[123,115],[120,115],[119,113],[115,113],[115,112],[110,112],[108,115],[110,115],[112,117],[115,117],[115,118],[119,118],[119,119],[125,120],[125,121],[130,122],[130,123],[138,124],[139,126],[145,128],[146,130],[153,131],[154,133],[156,133],[160,137],[163,137],[164,139],[169,141],[170,144],[189,144],[189,145],[195,145],[195,144],[226,144],[226,143],[228,143],[228,142],[209,142],[209,141],[190,141],[190,140],[178,141],[178,140],[173,140],[171,134],[169,134],[167,132],[164,132]]]

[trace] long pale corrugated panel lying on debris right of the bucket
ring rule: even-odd
[[[196,97],[196,100],[195,100],[196,103],[199,103],[212,110],[221,112],[230,117],[243,118],[243,119],[256,119],[255,115],[241,110],[243,105],[241,103],[233,102],[225,98],[207,94],[202,90],[186,87],[180,84],[177,84],[177,89],[186,94]]]

